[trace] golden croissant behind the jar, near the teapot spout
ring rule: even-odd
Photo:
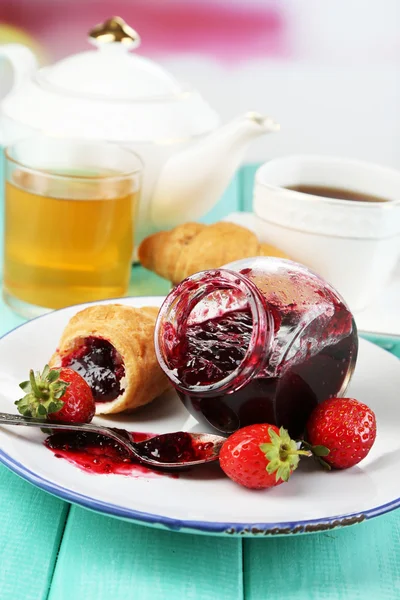
[[[213,225],[184,223],[171,231],[145,238],[138,249],[139,261],[150,271],[177,284],[193,273],[217,269],[252,256],[288,256],[268,244],[260,244],[245,227],[221,221]]]

